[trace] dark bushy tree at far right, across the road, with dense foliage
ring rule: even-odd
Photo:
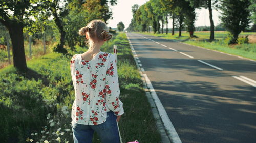
[[[221,0],[221,21],[232,35],[229,44],[237,43],[238,35],[250,23],[250,0]]]

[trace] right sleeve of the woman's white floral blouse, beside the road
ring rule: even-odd
[[[110,110],[115,112],[115,115],[124,113],[123,103],[119,99],[120,89],[118,83],[118,74],[116,59],[113,54],[110,54],[110,62],[106,71],[105,89],[106,89],[106,105]]]

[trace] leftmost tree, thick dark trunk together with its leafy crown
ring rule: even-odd
[[[33,9],[33,11],[29,11]],[[36,14],[38,9],[31,1],[8,1],[0,3],[0,22],[9,31],[12,42],[12,55],[14,67],[22,72],[27,71],[27,63],[24,51],[23,28],[29,17]]]

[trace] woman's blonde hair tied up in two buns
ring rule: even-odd
[[[79,35],[86,35],[89,33],[90,39],[87,41],[89,50],[92,50],[92,45],[99,41],[108,41],[112,38],[112,34],[108,32],[106,23],[102,20],[92,20],[87,26],[79,30]]]

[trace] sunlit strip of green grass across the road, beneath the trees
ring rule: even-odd
[[[175,32],[175,35],[172,33],[166,34],[154,34],[148,32],[138,32],[141,34],[157,36],[165,39],[173,39],[177,41],[181,41],[190,45],[200,46],[203,48],[208,48],[212,50],[217,50],[233,55],[243,56],[245,58],[256,60],[256,44],[241,44],[241,45],[233,45],[228,46],[225,43],[225,37],[227,36],[227,32],[223,31],[215,31],[215,41],[208,42],[206,39],[209,39],[210,32],[195,32],[194,35],[198,36],[198,38],[189,39],[188,32],[182,32],[182,36],[178,36],[178,32]],[[255,32],[242,32],[240,35],[253,35]]]

